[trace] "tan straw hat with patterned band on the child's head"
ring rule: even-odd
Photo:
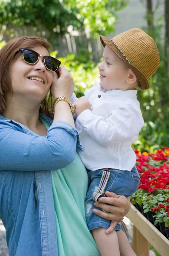
[[[155,41],[141,29],[129,29],[112,39],[100,35],[101,44],[106,45],[129,65],[140,81],[139,87],[149,88],[149,77],[160,64]]]

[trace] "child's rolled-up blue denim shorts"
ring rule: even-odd
[[[118,169],[109,170],[110,176],[109,180],[107,181],[105,192],[114,192],[118,195],[124,195],[126,197],[129,197],[133,193],[135,193],[140,183],[140,176],[135,166],[132,168],[131,172],[121,171]],[[94,172],[87,170],[87,174],[89,177],[89,188],[85,201],[85,215],[87,227],[89,230],[93,230],[99,227],[104,227],[105,229],[107,229],[110,226],[110,221],[105,220],[92,212],[93,208],[101,210],[100,208],[97,208],[93,205],[93,193],[96,192],[98,189],[102,172],[103,169],[96,170]],[[117,224],[114,230],[119,231],[120,229],[121,225]]]

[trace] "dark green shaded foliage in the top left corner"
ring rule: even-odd
[[[0,24],[30,25],[37,28],[43,25],[51,32],[59,25],[59,30],[63,34],[70,24],[82,26],[73,12],[64,8],[62,1],[59,0],[1,0]]]

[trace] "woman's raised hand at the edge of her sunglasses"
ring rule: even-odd
[[[58,96],[66,96],[70,99],[74,90],[74,82],[71,74],[63,66],[60,66],[57,73],[53,72],[53,74],[54,79],[51,85],[51,94],[54,99]]]

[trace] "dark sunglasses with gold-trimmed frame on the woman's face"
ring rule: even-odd
[[[31,49],[20,48],[17,52],[20,52],[20,51],[23,53],[24,61],[31,65],[34,65],[38,62],[39,56],[43,57],[43,64],[50,71],[56,71],[61,64],[61,61],[57,60],[56,58],[53,58],[48,55],[43,56]],[[15,53],[15,55],[17,54],[17,52]]]

